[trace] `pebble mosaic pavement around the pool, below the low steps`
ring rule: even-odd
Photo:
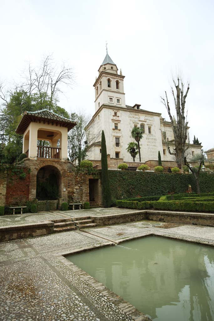
[[[85,231],[97,236],[75,230],[0,244],[1,321],[134,320],[59,260],[61,253],[151,234],[214,246],[212,227],[139,221]]]

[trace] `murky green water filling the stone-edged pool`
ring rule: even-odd
[[[214,320],[214,249],[146,237],[67,256],[152,320]]]

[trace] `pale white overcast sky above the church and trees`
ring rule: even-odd
[[[98,68],[108,53],[122,69],[126,104],[167,111],[172,73],[190,80],[187,97],[191,140],[213,147],[214,2],[211,0],[0,0],[0,79],[19,79],[25,61],[53,53],[74,68],[76,85],[59,105],[94,114]],[[171,100],[173,106],[173,100]]]

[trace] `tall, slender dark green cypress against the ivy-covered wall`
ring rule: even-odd
[[[107,152],[106,152],[106,138],[104,131],[102,130],[101,138],[101,166],[102,166],[102,194],[104,207],[111,206],[111,191],[108,178],[108,164],[107,164]]]

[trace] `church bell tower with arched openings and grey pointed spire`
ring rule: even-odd
[[[103,105],[116,105],[125,107],[125,93],[123,80],[125,76],[117,73],[116,64],[106,54],[101,66],[98,69],[98,78],[94,83],[95,88],[95,112]]]

